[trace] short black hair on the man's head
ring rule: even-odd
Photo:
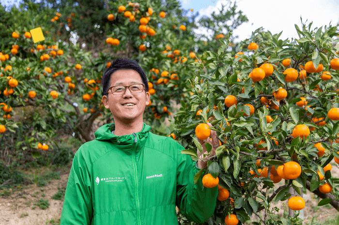
[[[110,64],[108,68],[106,68],[104,75],[101,79],[101,84],[103,86],[103,96],[106,96],[109,85],[110,85],[110,78],[112,73],[114,73],[117,70],[121,69],[133,69],[137,71],[141,77],[142,82],[145,84],[145,92],[148,91],[148,82],[147,77],[145,74],[145,71],[141,68],[141,66],[137,63],[137,61],[133,59],[127,59],[127,58],[117,58],[113,61],[113,63]]]

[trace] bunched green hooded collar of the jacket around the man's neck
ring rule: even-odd
[[[106,124],[97,129],[95,131],[94,136],[95,140],[99,141],[109,141],[117,146],[117,148],[127,155],[132,155],[133,151],[138,154],[140,150],[143,148],[146,142],[146,138],[148,137],[148,131],[150,131],[151,127],[145,123],[143,123],[142,129],[140,132],[116,136],[112,134],[112,130],[115,130],[115,124]]]

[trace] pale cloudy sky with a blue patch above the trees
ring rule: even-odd
[[[227,5],[230,0],[179,0],[184,9],[193,9],[200,16],[210,16],[212,12]],[[234,0],[231,0],[234,2]],[[282,32],[280,39],[298,38],[294,24],[301,28],[303,22],[313,22],[311,28],[339,23],[339,0],[237,0],[237,11],[247,16],[248,22],[240,25],[233,35],[238,40],[250,38],[252,31],[262,27],[272,34]],[[202,30],[197,33],[205,32]]]

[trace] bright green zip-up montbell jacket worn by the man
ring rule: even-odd
[[[95,132],[77,150],[68,178],[61,225],[177,225],[177,205],[202,223],[216,207],[217,187],[203,188],[200,170],[183,146],[140,132],[116,136],[114,124]]]

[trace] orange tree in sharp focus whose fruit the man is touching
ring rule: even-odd
[[[290,188],[309,190],[322,199],[319,206],[339,210],[339,178],[331,175],[339,162],[338,26],[295,27],[299,38],[292,41],[258,29],[237,45],[244,54],[227,51],[225,40],[204,52],[188,80],[193,95],[181,102],[173,133],[182,152],[197,160],[197,136],[209,134],[198,125],[209,122],[217,132],[216,156],[194,178],[219,180],[209,224],[244,224],[252,214],[260,217],[253,224],[300,224],[298,213],[277,218],[279,209],[270,207],[289,199],[291,210],[303,209],[305,201],[290,198]],[[210,154],[212,146],[203,145]]]

